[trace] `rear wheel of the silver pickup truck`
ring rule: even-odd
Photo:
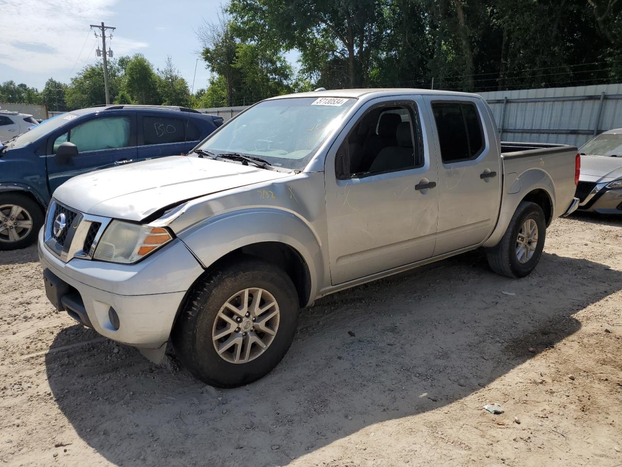
[[[524,277],[539,262],[545,237],[544,211],[536,203],[522,201],[501,241],[488,250],[488,264],[501,275]]]

